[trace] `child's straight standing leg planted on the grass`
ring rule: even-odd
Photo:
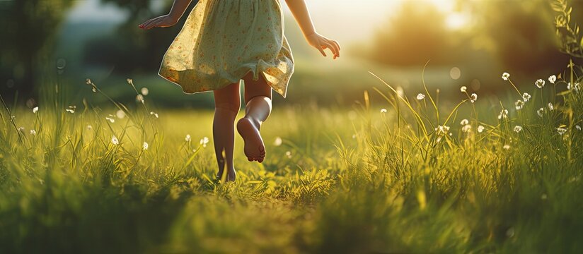
[[[226,162],[227,181],[235,181],[235,167],[233,167],[234,123],[239,109],[241,109],[239,83],[233,83],[219,90],[214,90],[212,136],[214,152],[217,155],[217,164],[219,164],[217,179],[222,178]],[[224,157],[223,151],[225,152]]]

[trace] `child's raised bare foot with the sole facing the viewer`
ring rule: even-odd
[[[253,123],[250,119],[243,117],[237,122],[237,131],[245,142],[245,155],[248,161],[263,162],[265,159],[265,145],[259,133],[259,123]]]

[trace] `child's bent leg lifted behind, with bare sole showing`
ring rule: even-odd
[[[259,80],[253,80],[249,73],[245,81],[245,117],[237,122],[237,131],[245,141],[245,155],[252,162],[263,162],[265,158],[265,145],[259,133],[261,123],[271,114],[271,87],[260,76]]]

